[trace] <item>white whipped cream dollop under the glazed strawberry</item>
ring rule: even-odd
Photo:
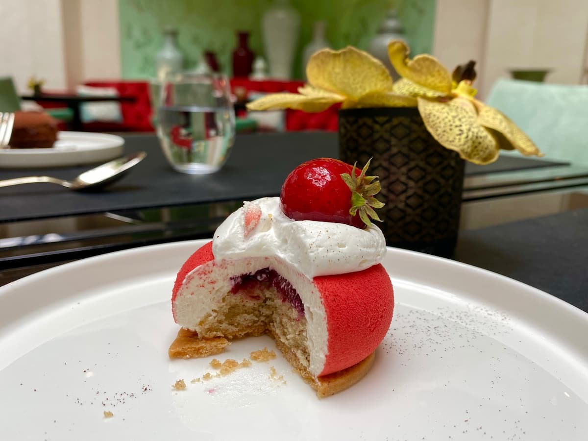
[[[260,211],[260,215],[259,215]],[[246,202],[216,229],[215,260],[276,257],[307,278],[360,271],[386,254],[382,231],[335,222],[293,220],[280,208],[280,198]]]

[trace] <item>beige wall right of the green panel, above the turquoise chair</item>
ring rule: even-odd
[[[580,83],[587,36],[587,0],[437,0],[433,48],[450,69],[476,59],[484,98],[511,68],[553,68],[547,82]]]

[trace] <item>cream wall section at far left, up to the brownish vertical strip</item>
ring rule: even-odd
[[[12,76],[26,92],[32,75],[48,89],[66,86],[60,0],[0,2],[0,76]]]

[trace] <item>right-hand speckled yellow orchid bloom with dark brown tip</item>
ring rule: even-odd
[[[433,138],[463,159],[487,164],[499,149],[517,149],[523,155],[543,156],[533,141],[502,112],[475,99],[475,62],[457,66],[453,75],[430,55],[409,59],[403,41],[388,44],[388,56],[402,76],[394,91],[417,98],[420,116]]]

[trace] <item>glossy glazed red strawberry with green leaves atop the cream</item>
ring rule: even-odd
[[[361,172],[355,165],[332,158],[300,164],[282,186],[282,211],[295,220],[371,226],[372,219],[380,220],[373,209],[384,204],[373,197],[380,191],[377,176],[365,175],[370,161]]]

